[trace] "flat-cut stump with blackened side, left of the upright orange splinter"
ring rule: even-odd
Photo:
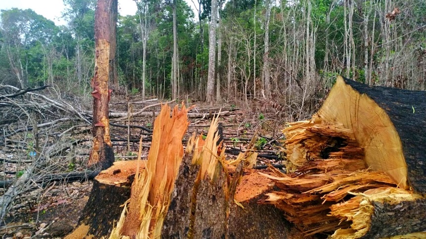
[[[142,162],[142,163],[141,163]],[[144,169],[141,161],[140,169]],[[117,161],[101,171],[93,181],[93,189],[74,232],[66,239],[108,237],[118,221],[123,205],[130,197],[130,186],[137,169],[137,160]]]

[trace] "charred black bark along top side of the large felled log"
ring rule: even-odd
[[[408,180],[415,191],[426,193],[426,92],[372,87],[346,78],[344,81],[387,113],[401,139]]]

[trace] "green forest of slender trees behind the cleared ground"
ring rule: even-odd
[[[1,10],[2,85],[49,84],[91,100],[96,0],[63,1],[66,26],[31,9]],[[196,15],[183,0],[135,1],[135,15],[117,17],[115,93],[273,98],[303,118],[338,74],[425,90],[425,0],[192,0]]]

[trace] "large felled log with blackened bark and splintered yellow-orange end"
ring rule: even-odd
[[[426,92],[338,77],[311,120],[291,123],[281,191],[264,203],[306,235],[425,238]]]

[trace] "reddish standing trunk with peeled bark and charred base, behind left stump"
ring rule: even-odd
[[[93,148],[89,165],[106,169],[114,162],[109,136],[108,102],[112,90],[108,90],[110,46],[112,40],[111,8],[117,0],[98,0],[95,12],[95,76],[93,88]],[[115,22],[114,22],[115,24]],[[114,47],[115,48],[115,47]]]

